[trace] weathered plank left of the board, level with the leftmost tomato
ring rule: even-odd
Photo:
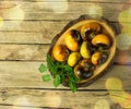
[[[0,45],[0,60],[45,61],[49,45]]]

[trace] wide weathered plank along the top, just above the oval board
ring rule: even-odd
[[[59,5],[59,7],[53,7]],[[94,5],[94,7],[92,7]],[[96,8],[96,4],[92,2],[21,2],[21,9],[24,12],[24,20],[73,20],[74,17],[79,17],[82,14],[90,13],[90,8]],[[122,10],[123,4],[122,3],[97,3],[98,10],[104,13],[104,16],[109,19],[110,21],[117,21],[119,12]],[[129,3],[124,4],[126,8],[130,8]],[[5,7],[7,8],[7,7]],[[9,19],[5,13],[8,13],[9,10],[7,10],[4,7],[2,7],[1,13],[4,20],[13,20]],[[100,9],[102,8],[102,9]],[[14,7],[10,7],[10,10],[15,10]],[[61,10],[64,9],[64,10]],[[15,10],[13,13],[19,13]],[[95,9],[94,9],[95,10]],[[97,11],[98,11],[97,10]],[[94,14],[94,13],[93,13]],[[98,14],[96,12],[96,14]],[[114,14],[114,15],[112,15]],[[14,17],[14,20],[23,20],[23,17]],[[127,21],[123,21],[127,22]]]

